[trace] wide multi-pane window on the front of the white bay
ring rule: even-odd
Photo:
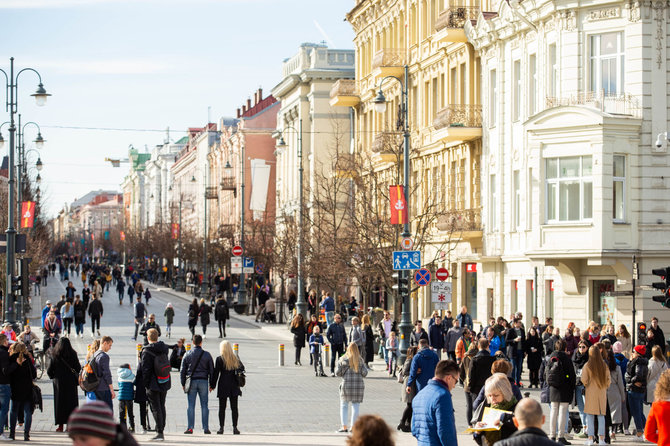
[[[592,157],[546,159],[547,222],[593,217]]]

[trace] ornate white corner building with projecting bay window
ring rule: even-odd
[[[668,6],[498,3],[466,25],[484,105],[476,317],[630,324],[631,297],[606,293],[631,289],[618,281],[633,255],[638,283],[670,265],[667,143],[654,144],[668,128]],[[640,294],[638,321],[670,317]]]

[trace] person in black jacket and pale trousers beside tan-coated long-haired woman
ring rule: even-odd
[[[575,396],[576,376],[565,347],[563,339],[556,341],[554,351],[548,358],[545,374],[551,403],[549,437],[559,443],[570,444],[565,439],[565,434],[567,434],[568,405]]]

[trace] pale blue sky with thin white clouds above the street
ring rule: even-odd
[[[303,42],[353,48],[354,0],[0,0],[0,68],[19,77],[19,113],[46,140],[42,197],[55,216],[90,190],[119,190],[128,171],[105,163],[129,145],[150,151],[211,116],[234,116]],[[0,79],[3,76],[0,75]],[[4,96],[3,96],[4,99]],[[211,107],[210,111],[208,108]],[[9,113],[0,111],[0,123]],[[1,131],[8,140],[8,126]],[[25,127],[33,141],[37,128]],[[7,155],[5,144],[0,153]],[[34,148],[27,144],[26,148]],[[28,154],[34,165],[37,153]],[[34,169],[31,170],[34,177]]]

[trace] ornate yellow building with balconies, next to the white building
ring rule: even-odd
[[[451,309],[467,305],[472,315],[482,246],[481,64],[463,27],[488,6],[472,0],[459,6],[447,0],[358,1],[346,16],[356,33],[356,79],[340,80],[331,91],[332,105],[355,110],[355,150],[369,154],[380,175],[390,179],[402,161],[394,153],[402,141],[395,112],[401,83],[384,82],[386,113],[376,113],[373,100],[384,77],[402,81],[408,66],[412,233],[424,240],[423,264],[433,272],[442,266],[450,271]],[[429,316],[430,290],[413,297],[413,318]]]

